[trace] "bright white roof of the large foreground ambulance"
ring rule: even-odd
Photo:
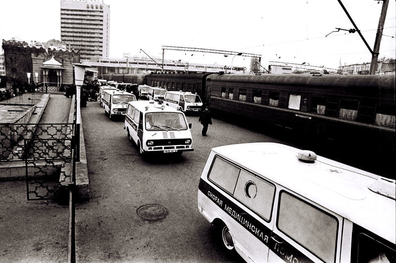
[[[228,145],[212,151],[395,243],[395,180],[321,156],[302,162],[296,157],[299,149],[276,143]]]

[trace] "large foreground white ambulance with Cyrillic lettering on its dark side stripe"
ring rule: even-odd
[[[213,148],[198,210],[246,262],[396,262],[395,180],[276,143]]]

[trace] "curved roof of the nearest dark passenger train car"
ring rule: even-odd
[[[395,93],[395,75],[304,75],[304,74],[224,74],[210,75],[207,81],[290,84],[295,86],[334,86],[344,89],[377,88]]]

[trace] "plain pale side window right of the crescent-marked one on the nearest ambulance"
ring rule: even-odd
[[[276,225],[322,261],[335,262],[338,232],[336,217],[281,191]]]

